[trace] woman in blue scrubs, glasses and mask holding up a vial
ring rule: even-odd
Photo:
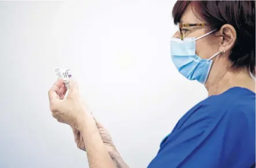
[[[209,97],[189,110],[160,144],[149,168],[255,165],[255,1],[178,1],[172,62]],[[73,128],[91,168],[128,167],[109,133],[93,119],[75,82],[69,96],[49,91],[53,117]]]

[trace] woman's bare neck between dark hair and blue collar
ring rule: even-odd
[[[248,70],[227,71],[219,81],[208,83],[205,87],[208,90],[208,96],[221,94],[231,87],[244,87],[255,92],[255,80],[251,78]]]

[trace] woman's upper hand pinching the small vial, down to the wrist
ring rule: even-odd
[[[48,91],[52,116],[59,122],[79,130],[85,120],[93,120],[92,114],[82,100],[76,82],[70,81],[69,94],[66,98],[65,93],[65,83],[62,79],[55,82]]]

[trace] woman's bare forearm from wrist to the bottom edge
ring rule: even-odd
[[[80,122],[80,132],[84,138],[88,163],[90,168],[114,168],[115,163],[108,154],[94,120]]]

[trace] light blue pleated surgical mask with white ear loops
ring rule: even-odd
[[[198,82],[205,84],[210,68],[212,67],[212,59],[219,55],[221,51],[209,59],[202,59],[195,54],[195,41],[202,37],[208,36],[215,30],[206,33],[205,35],[195,38],[186,37],[184,40],[172,37],[171,39],[171,57],[175,67],[180,74],[189,80],[197,80]],[[206,48],[207,49],[207,48]]]

